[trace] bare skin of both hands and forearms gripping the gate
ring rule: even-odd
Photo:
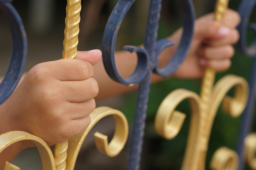
[[[228,10],[220,21],[213,21],[213,14],[196,20],[189,53],[172,76],[199,78],[206,67],[217,72],[227,70],[234,55],[232,44],[239,39],[236,30],[239,22],[238,13],[232,10]],[[181,35],[182,29],[179,29],[168,39],[178,44]],[[159,66],[170,60],[176,48],[177,45],[172,46],[162,53]],[[136,54],[119,51],[115,55],[120,74],[128,76],[128,70],[136,65]],[[162,79],[153,75],[151,82]],[[37,64],[7,101],[0,105],[0,134],[22,130],[42,138],[49,145],[67,141],[88,127],[95,100],[136,88],[124,86],[108,77],[99,50],[79,51],[76,59]],[[0,169],[6,160],[11,161],[23,149],[32,146],[31,142],[23,141],[2,152]]]

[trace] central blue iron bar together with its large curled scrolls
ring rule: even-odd
[[[173,45],[174,42],[166,39],[157,41],[158,22],[160,18],[159,13],[161,11],[162,0],[150,0],[144,43],[145,49],[136,46],[124,46],[124,50],[136,52],[138,57],[135,71],[130,77],[124,79],[119,75],[115,66],[115,44],[121,22],[134,2],[135,0],[118,1],[106,24],[102,41],[103,63],[108,75],[113,80],[125,85],[135,85],[139,83],[128,170],[139,170],[140,166],[144,128],[146,126],[148,94],[150,91],[150,77],[153,72],[165,77],[177,70],[186,57],[186,53],[189,49],[195,20],[192,1],[181,0],[184,26],[181,42],[170,62],[164,67],[158,68],[157,61],[159,54],[166,47]]]

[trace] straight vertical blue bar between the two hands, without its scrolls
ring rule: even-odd
[[[156,63],[155,44],[157,40],[158,22],[160,19],[162,0],[151,0],[148,14],[146,40],[144,43],[149,55],[149,70],[146,77],[139,84],[128,170],[139,170],[143,146],[144,129],[146,126],[146,110],[150,91],[150,77]]]

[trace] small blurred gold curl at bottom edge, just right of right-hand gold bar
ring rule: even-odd
[[[221,147],[213,154],[210,168],[212,170],[237,170],[238,161],[238,155],[235,151]]]

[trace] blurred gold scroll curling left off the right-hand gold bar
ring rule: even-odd
[[[200,115],[201,100],[198,94],[186,89],[177,89],[167,95],[157,110],[155,130],[159,135],[166,139],[173,139],[178,134],[186,115],[175,110],[175,108],[184,99],[189,99],[191,106],[189,137],[182,164],[182,170],[187,170],[191,169],[192,166],[196,166],[195,162],[198,159],[198,156],[196,157],[195,153],[199,150],[198,137],[200,135],[200,127],[202,126],[202,115]],[[193,169],[196,169],[196,167]]]

